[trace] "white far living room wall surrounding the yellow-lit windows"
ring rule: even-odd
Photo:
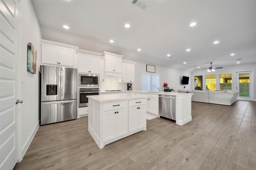
[[[209,75],[209,74],[216,74],[216,79],[218,80],[217,77],[219,77],[219,74],[228,74],[228,73],[231,73],[232,74],[232,90],[235,90],[236,89],[236,72],[238,71],[250,71],[250,70],[254,70],[254,89],[252,89],[254,91],[254,100],[256,100],[256,74],[255,74],[255,69],[256,69],[256,63],[250,63],[250,64],[236,64],[236,65],[233,65],[233,66],[224,66],[224,68],[219,68],[219,69],[216,69],[215,72],[207,72],[207,70],[201,70],[201,69],[198,69],[198,70],[194,70],[192,72],[192,77],[194,76],[205,76],[205,75]],[[194,78],[191,78],[190,80],[190,83],[194,83],[193,82],[193,79]],[[251,81],[250,81],[251,82]],[[205,83],[205,82],[203,82]],[[217,88],[217,85],[219,83],[216,81],[216,88]],[[218,85],[219,86],[219,85]],[[191,86],[193,88],[193,84]],[[204,88],[204,87],[203,87]],[[218,89],[216,89],[218,90]]]

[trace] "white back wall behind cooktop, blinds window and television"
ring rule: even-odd
[[[135,82],[132,83],[132,86],[133,90],[141,90],[141,73],[149,72],[146,72],[146,63],[135,63]],[[190,79],[192,79],[190,72],[156,66],[155,74],[160,75],[160,91],[164,91],[164,83],[168,83],[168,87],[170,89],[174,89],[175,91],[178,91],[178,89],[183,89],[184,86],[186,86],[186,89],[191,89],[193,86],[191,85],[191,82],[189,82],[188,85],[181,84],[182,76],[188,76]],[[100,91],[127,90],[127,83],[121,83],[119,80],[120,76],[105,76],[104,82],[101,82],[100,84]]]

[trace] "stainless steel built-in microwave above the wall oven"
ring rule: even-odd
[[[99,74],[78,74],[79,87],[99,87]]]

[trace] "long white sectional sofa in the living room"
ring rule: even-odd
[[[238,90],[203,91],[203,90],[178,90],[179,93],[193,93],[191,101],[211,104],[232,105],[236,102]]]

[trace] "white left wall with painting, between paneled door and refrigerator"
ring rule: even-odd
[[[39,70],[41,61],[40,25],[36,18],[32,2],[21,2],[21,146],[22,157],[30,145],[39,126]],[[27,44],[32,43],[37,51],[36,74],[27,72]]]

